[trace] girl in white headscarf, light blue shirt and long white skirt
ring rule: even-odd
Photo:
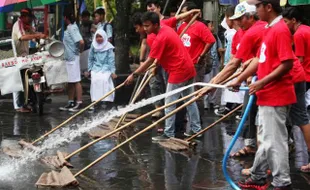
[[[97,101],[114,88],[115,74],[114,46],[108,41],[106,32],[98,29],[95,33],[88,57],[88,72],[91,75],[91,101]],[[102,100],[106,105],[114,102],[114,93]],[[94,109],[94,108],[91,108]]]

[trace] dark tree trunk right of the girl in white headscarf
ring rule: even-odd
[[[114,20],[114,42],[116,73],[118,74],[126,74],[130,72],[128,37],[132,2],[133,0],[115,0],[117,14]]]

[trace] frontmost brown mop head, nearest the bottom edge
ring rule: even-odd
[[[43,173],[36,182],[37,187],[64,187],[68,185],[78,185],[71,171],[65,166],[60,172],[51,171]]]

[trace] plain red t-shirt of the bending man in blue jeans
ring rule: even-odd
[[[149,57],[158,60],[169,74],[168,82],[185,82],[196,75],[194,64],[177,33],[168,26],[159,30]]]

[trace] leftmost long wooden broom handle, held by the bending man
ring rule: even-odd
[[[36,139],[35,141],[33,141],[31,144],[35,144],[38,141],[42,140],[43,138],[45,138],[46,136],[48,136],[49,134],[53,133],[54,131],[56,131],[57,129],[59,129],[60,127],[64,126],[65,124],[67,124],[69,121],[71,121],[72,119],[74,119],[76,116],[82,114],[84,111],[88,110],[90,107],[96,105],[98,102],[100,102],[101,100],[105,99],[106,97],[110,96],[113,92],[115,92],[115,90],[121,88],[122,86],[125,85],[125,82],[121,83],[120,85],[118,85],[117,87],[115,87],[114,89],[112,89],[110,92],[108,92],[107,94],[105,94],[104,96],[102,96],[99,100],[89,104],[87,107],[85,107],[84,109],[80,110],[79,112],[77,112],[76,114],[74,114],[73,116],[71,116],[69,119],[67,119],[66,121],[62,122],[60,125],[58,125],[57,127],[53,128],[52,130],[50,130],[49,132],[45,133],[44,135],[42,135],[41,137],[39,137],[38,139]]]

